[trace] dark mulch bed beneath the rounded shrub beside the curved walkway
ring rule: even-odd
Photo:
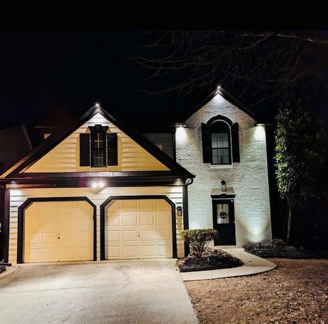
[[[175,264],[180,272],[189,272],[235,268],[242,266],[243,262],[223,250],[208,248],[201,258],[191,255],[178,259]]]

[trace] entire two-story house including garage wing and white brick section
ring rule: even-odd
[[[182,257],[188,228],[218,229],[215,246],[271,242],[265,131],[256,124],[223,89],[173,134],[146,137],[92,107],[0,176],[5,259]]]

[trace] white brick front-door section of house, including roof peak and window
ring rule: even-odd
[[[214,228],[215,246],[271,244],[264,124],[218,87],[178,124],[176,161],[195,174],[189,228]]]

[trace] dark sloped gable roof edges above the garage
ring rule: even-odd
[[[64,132],[56,132],[46,138],[39,146],[33,149],[30,153],[28,153],[25,157],[20,159],[15,165],[13,165],[10,169],[4,172],[0,178],[10,178],[11,176],[17,176],[19,172],[26,170],[31,165],[35,163],[40,157],[44,156],[50,150],[52,150],[56,145],[58,145],[62,140],[64,140],[67,136],[69,136],[72,132],[74,132],[77,128],[87,122],[90,118],[92,118],[97,113],[103,115],[106,119],[116,125],[120,130],[126,133],[130,138],[132,138],[138,145],[152,154],[156,159],[158,159],[163,165],[171,170],[171,175],[179,175],[181,177],[186,178],[194,178],[195,175],[187,171],[185,168],[180,166],[173,160],[170,156],[160,150],[155,144],[153,144],[150,140],[148,140],[144,135],[140,134],[137,130],[122,123],[117,116],[113,116],[105,111],[98,105],[90,108],[83,116],[81,116],[76,124],[70,127],[68,130]],[[93,172],[96,173],[96,172]],[[167,172],[168,173],[168,172]],[[90,174],[90,173],[89,173]],[[110,173],[109,173],[110,174]],[[116,173],[119,174],[119,173]],[[31,175],[30,175],[31,176]],[[20,177],[20,175],[19,175]]]

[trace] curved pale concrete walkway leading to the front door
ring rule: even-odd
[[[183,281],[218,279],[227,277],[246,276],[265,272],[276,268],[276,265],[266,259],[260,258],[254,254],[245,252],[243,248],[221,249],[232,254],[244,262],[241,267],[230,269],[217,269],[206,271],[181,272]]]

